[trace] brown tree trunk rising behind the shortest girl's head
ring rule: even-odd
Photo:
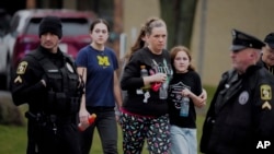
[[[168,49],[190,48],[197,0],[160,0],[161,17],[168,26]]]

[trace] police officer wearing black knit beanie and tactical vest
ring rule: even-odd
[[[27,154],[80,154],[77,114],[83,84],[59,47],[60,19],[39,23],[41,45],[19,63],[12,85],[15,105],[28,104]]]

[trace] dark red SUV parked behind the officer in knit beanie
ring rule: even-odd
[[[80,48],[91,42],[89,35],[90,23],[95,19],[92,12],[76,10],[35,9],[20,10],[11,20],[11,29],[4,36],[8,45],[7,54],[7,86],[9,87],[10,72],[14,71],[25,54],[39,45],[38,25],[46,15],[55,15],[62,22],[62,38],[59,47],[72,58],[76,58]]]

